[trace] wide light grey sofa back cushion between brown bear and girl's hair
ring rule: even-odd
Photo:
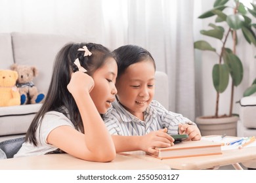
[[[54,58],[68,42],[83,42],[83,38],[65,35],[11,33],[14,62],[37,67],[39,75],[33,80],[39,92],[47,93],[51,82]]]

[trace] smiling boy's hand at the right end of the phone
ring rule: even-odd
[[[202,137],[198,127],[189,124],[179,124],[179,134],[188,134],[186,141],[199,141]]]

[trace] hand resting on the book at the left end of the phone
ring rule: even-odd
[[[173,146],[174,139],[167,133],[167,128],[158,131],[152,131],[147,135],[142,136],[141,150],[150,154],[158,155],[156,147],[165,148]]]

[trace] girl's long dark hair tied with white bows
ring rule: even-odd
[[[84,57],[83,51],[77,51],[79,48],[83,48],[83,46],[87,46],[88,50],[92,53],[91,56]],[[26,141],[32,142],[34,146],[38,144],[35,131],[40,126],[45,113],[51,110],[64,114],[68,113],[65,115],[70,118],[75,129],[84,133],[81,115],[72,94],[67,89],[72,72],[77,71],[77,66],[74,64],[77,58],[79,58],[81,66],[87,70],[87,74],[92,76],[97,69],[104,65],[107,58],[114,58],[114,55],[108,48],[95,43],[68,43],[62,47],[54,61],[53,75],[45,102],[35,115],[35,118],[33,118],[32,124],[26,133]],[[64,111],[63,107],[68,111]]]

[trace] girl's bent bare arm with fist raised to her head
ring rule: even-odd
[[[72,75],[68,84],[68,90],[81,113],[85,134],[64,125],[53,129],[47,137],[47,142],[77,158],[112,161],[116,157],[114,142],[89,95],[93,86],[93,78],[80,71]]]

